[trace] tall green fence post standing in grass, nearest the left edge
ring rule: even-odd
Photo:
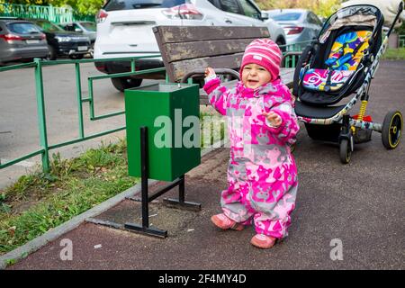
[[[37,95],[38,129],[40,130],[40,146],[42,151],[42,171],[49,171],[49,147],[47,136],[47,121],[45,117],[45,102],[43,98],[42,64],[40,58],[35,58],[35,92]]]

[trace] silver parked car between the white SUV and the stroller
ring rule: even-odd
[[[277,9],[266,13],[284,28],[287,44],[312,40],[322,29],[320,18],[309,10]]]

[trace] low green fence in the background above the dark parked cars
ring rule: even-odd
[[[40,5],[0,3],[0,16],[47,19],[52,23],[70,23],[73,21],[94,22],[94,15],[76,14],[72,8]]]

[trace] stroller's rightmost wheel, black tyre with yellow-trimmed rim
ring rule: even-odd
[[[391,111],[385,115],[383,121],[382,140],[387,149],[397,148],[401,141],[402,114],[399,111]]]

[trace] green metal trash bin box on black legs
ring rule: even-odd
[[[148,128],[148,178],[173,181],[201,163],[198,85],[125,90],[129,175],[140,176],[140,127]]]

